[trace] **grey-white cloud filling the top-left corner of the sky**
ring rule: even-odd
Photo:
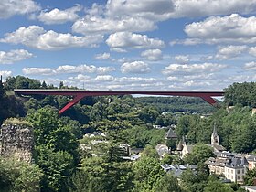
[[[0,19],[15,15],[25,15],[38,11],[40,6],[33,0],[1,0]]]

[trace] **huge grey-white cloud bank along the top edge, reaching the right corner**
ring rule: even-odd
[[[86,9],[72,30],[81,34],[144,32],[170,18],[254,14],[255,10],[256,0],[108,0],[106,5],[94,3]]]

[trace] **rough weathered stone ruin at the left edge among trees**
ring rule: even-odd
[[[1,126],[0,155],[32,162],[34,148],[33,128],[24,124],[7,123]]]

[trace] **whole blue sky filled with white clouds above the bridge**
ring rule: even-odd
[[[0,75],[91,91],[256,80],[256,0],[1,0]]]

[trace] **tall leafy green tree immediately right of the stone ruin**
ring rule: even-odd
[[[36,163],[45,174],[42,191],[67,191],[68,178],[80,160],[73,128],[52,107],[28,114],[27,121],[34,126]]]

